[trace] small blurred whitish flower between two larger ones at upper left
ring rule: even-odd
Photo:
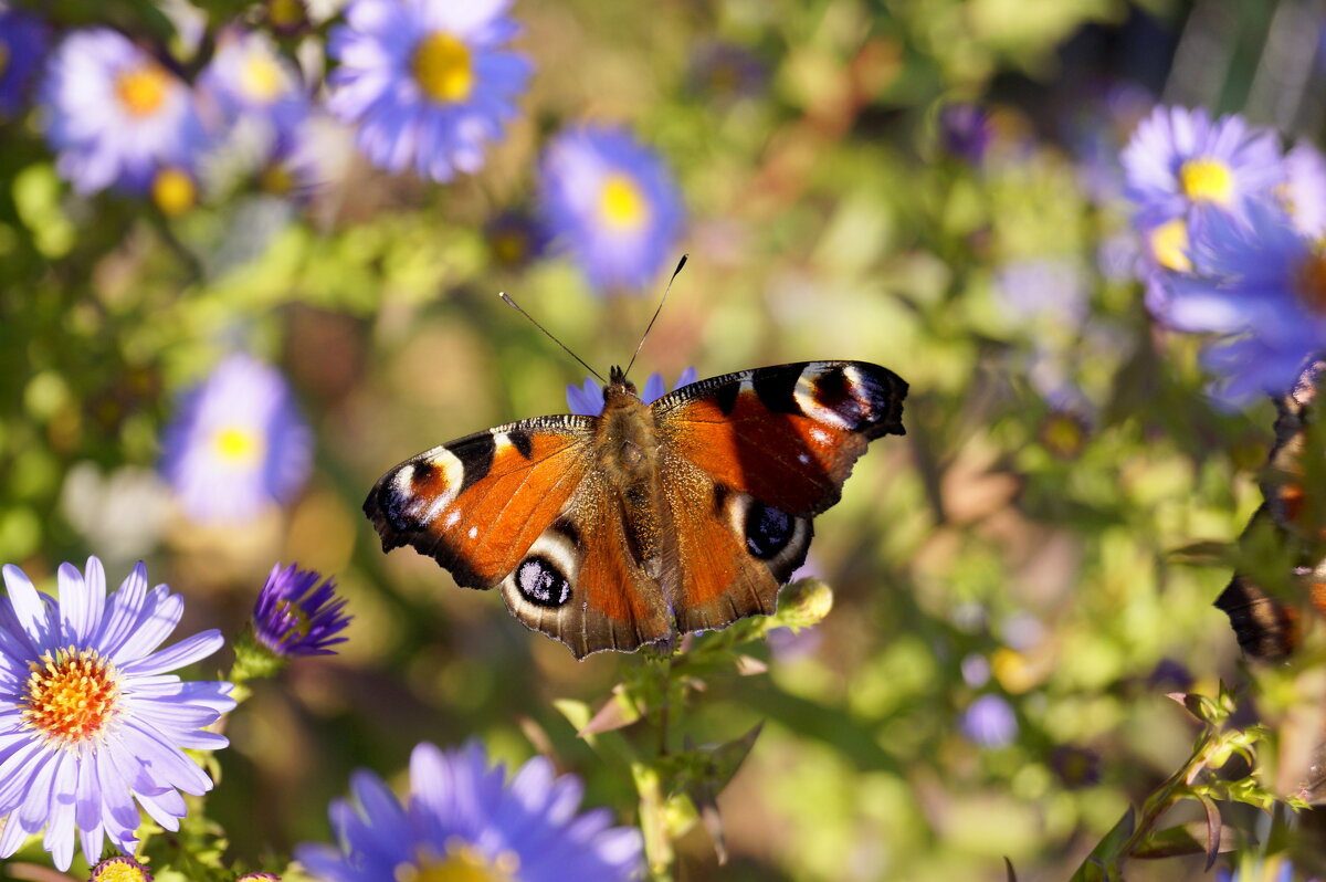
[[[221,34],[216,54],[198,78],[199,94],[221,122],[259,127],[274,150],[286,143],[309,115],[309,97],[300,73],[259,32]]]

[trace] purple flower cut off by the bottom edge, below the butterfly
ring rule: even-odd
[[[479,744],[447,752],[419,744],[404,804],[378,776],[357,772],[354,802],[337,800],[330,809],[339,844],[305,844],[296,857],[325,882],[635,878],[639,830],[610,826],[605,809],[577,814],[574,776],[554,777],[553,764],[536,756],[505,779]]]

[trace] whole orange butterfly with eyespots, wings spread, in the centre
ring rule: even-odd
[[[363,511],[389,552],[500,589],[575,658],[774,611],[812,519],[902,435],[907,383],[867,362],[757,367],[646,405],[613,367],[598,416],[522,419],[387,471]]]

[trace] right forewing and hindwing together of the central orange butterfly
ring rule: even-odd
[[[760,367],[660,398],[679,631],[772,613],[870,440],[902,435],[907,383],[867,362]]]

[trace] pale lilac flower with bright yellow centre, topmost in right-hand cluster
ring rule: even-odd
[[[1285,180],[1274,133],[1187,107],[1156,107],[1123,150],[1123,168],[1144,231],[1192,208],[1244,218],[1249,203],[1272,198]]]

